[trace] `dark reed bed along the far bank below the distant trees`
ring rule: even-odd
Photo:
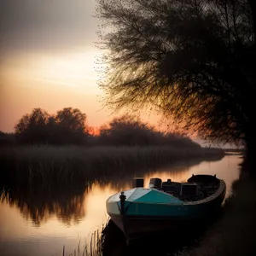
[[[224,156],[219,149],[172,147],[8,147],[0,150],[1,179],[48,187],[67,186],[95,178],[133,175],[146,166],[176,160]]]

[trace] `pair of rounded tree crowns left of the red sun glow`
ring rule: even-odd
[[[86,137],[86,115],[77,108],[63,108],[49,115],[34,108],[15,125],[18,143],[83,144]]]

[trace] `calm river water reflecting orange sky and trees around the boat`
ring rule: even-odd
[[[229,196],[231,184],[239,177],[241,161],[239,155],[227,155],[222,160],[178,162],[138,173],[143,174],[145,186],[150,177],[186,181],[192,174],[216,174],[226,182]],[[64,245],[67,255],[78,246],[81,249],[108,221],[108,196],[130,189],[131,180],[96,182],[55,193],[9,191],[0,202],[0,255],[62,255]]]

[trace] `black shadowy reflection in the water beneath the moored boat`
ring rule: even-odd
[[[207,231],[207,228],[214,224],[214,221],[221,214],[221,211],[218,212],[218,215],[196,226],[196,229],[191,229],[188,226],[175,232],[167,230],[154,236],[137,238],[130,241],[129,244],[126,243],[123,232],[110,219],[102,230],[102,256],[178,255],[178,252],[183,250],[184,247],[195,246],[199,238]]]

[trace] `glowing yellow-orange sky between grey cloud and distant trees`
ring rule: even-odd
[[[96,65],[101,53],[96,49],[76,49],[47,55],[43,52],[20,52],[9,55],[1,68],[0,131],[12,132],[15,124],[33,108],[48,113],[72,107],[87,116],[90,127],[113,119],[102,104],[103,91],[97,85]],[[1,63],[0,63],[1,64]],[[103,72],[103,69],[101,70]],[[117,116],[125,113],[122,111]],[[157,125],[154,114],[142,113],[145,122]]]

